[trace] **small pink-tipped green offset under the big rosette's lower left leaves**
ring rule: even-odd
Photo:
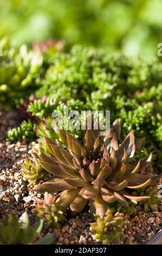
[[[63,212],[56,208],[54,198],[48,192],[44,193],[44,200],[37,199],[33,212],[44,220],[47,227],[58,228],[58,222],[64,220]]]

